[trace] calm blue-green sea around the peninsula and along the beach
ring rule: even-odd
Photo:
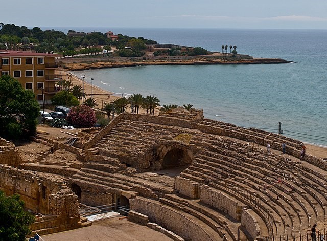
[[[192,104],[205,118],[255,127],[327,146],[327,30],[50,28],[65,33],[112,31],[158,43],[221,52],[236,45],[253,57],[293,63],[254,65],[165,65],[75,71],[116,95],[154,95],[160,104]],[[228,52],[230,49],[228,48]]]

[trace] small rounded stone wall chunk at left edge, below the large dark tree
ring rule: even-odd
[[[18,167],[21,163],[21,156],[14,143],[0,138],[0,164]]]

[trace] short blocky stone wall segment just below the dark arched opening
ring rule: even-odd
[[[187,178],[177,176],[175,178],[174,190],[191,199],[199,198],[199,184]]]

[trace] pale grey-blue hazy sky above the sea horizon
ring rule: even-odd
[[[10,0],[0,22],[27,27],[327,29],[327,0]]]

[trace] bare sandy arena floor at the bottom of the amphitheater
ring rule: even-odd
[[[155,231],[147,226],[141,226],[128,221],[119,220],[118,217],[97,221],[92,226],[74,229],[71,231],[54,233],[42,236],[44,241],[86,241],[86,240],[106,240],[106,241],[171,241],[173,239]]]

